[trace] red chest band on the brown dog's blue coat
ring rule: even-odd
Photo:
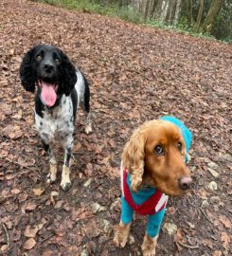
[[[147,201],[145,201],[141,205],[136,205],[134,203],[132,192],[130,191],[130,188],[127,184],[126,170],[123,171],[123,191],[127,203],[131,206],[133,210],[135,210],[135,212],[137,212],[140,215],[152,215],[156,213],[157,211],[155,210],[155,206],[158,204],[160,198],[163,195],[162,192],[156,190]],[[167,202],[165,202],[159,210],[163,210],[166,206],[166,203]]]

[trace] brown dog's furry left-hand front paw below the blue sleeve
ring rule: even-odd
[[[122,222],[119,223],[114,238],[116,247],[125,247],[128,241],[128,236],[131,228],[131,223],[125,225]]]

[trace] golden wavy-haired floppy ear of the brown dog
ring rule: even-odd
[[[144,173],[145,136],[138,128],[126,143],[122,153],[123,167],[131,174],[132,190],[137,192]]]

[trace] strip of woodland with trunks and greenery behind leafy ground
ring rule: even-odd
[[[43,2],[118,16],[134,23],[179,29],[232,41],[231,0],[42,0]]]

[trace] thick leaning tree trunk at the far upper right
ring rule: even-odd
[[[224,0],[213,0],[211,6],[208,10],[208,13],[205,17],[205,22],[203,24],[203,30],[206,32],[210,32],[212,29],[212,23],[216,15],[219,13],[222,8]]]

